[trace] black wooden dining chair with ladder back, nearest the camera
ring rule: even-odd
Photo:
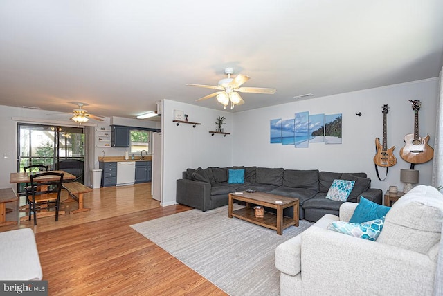
[[[43,172],[30,176],[30,189],[26,192],[26,199],[29,202],[29,220],[31,213],[34,213],[34,225],[37,225],[37,210],[41,212],[43,208],[55,208],[55,221],[58,221],[62,183],[63,173]]]

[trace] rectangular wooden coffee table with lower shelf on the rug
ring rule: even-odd
[[[246,207],[234,211],[234,201],[246,202]],[[282,203],[275,203],[281,201]],[[253,207],[249,203],[271,207],[277,210],[277,214],[264,212],[263,218],[255,218]],[[287,207],[293,207],[293,219],[283,216],[283,210]],[[228,217],[237,217],[266,228],[277,230],[277,234],[282,234],[283,230],[289,226],[298,226],[298,198],[278,196],[263,192],[234,192],[229,194]]]

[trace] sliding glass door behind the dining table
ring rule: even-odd
[[[17,172],[28,165],[62,169],[83,183],[85,136],[82,128],[18,124]]]

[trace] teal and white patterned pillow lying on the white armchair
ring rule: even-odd
[[[349,223],[343,221],[334,221],[327,226],[327,229],[341,232],[352,237],[359,237],[360,239],[368,239],[369,241],[376,241],[381,230],[383,230],[383,223],[385,217],[375,219],[363,223]]]

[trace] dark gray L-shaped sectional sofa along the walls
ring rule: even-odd
[[[229,169],[244,169],[244,183],[229,183]],[[187,169],[177,180],[177,203],[206,211],[228,204],[231,192],[253,189],[280,196],[298,198],[299,219],[318,221],[325,214],[338,215],[343,201],[325,198],[335,179],[355,181],[348,202],[358,203],[364,196],[381,204],[381,189],[370,188],[365,173],[319,172],[318,169],[300,170],[269,167],[208,167]],[[272,211],[272,209],[266,209]],[[291,208],[284,216],[293,216]]]

